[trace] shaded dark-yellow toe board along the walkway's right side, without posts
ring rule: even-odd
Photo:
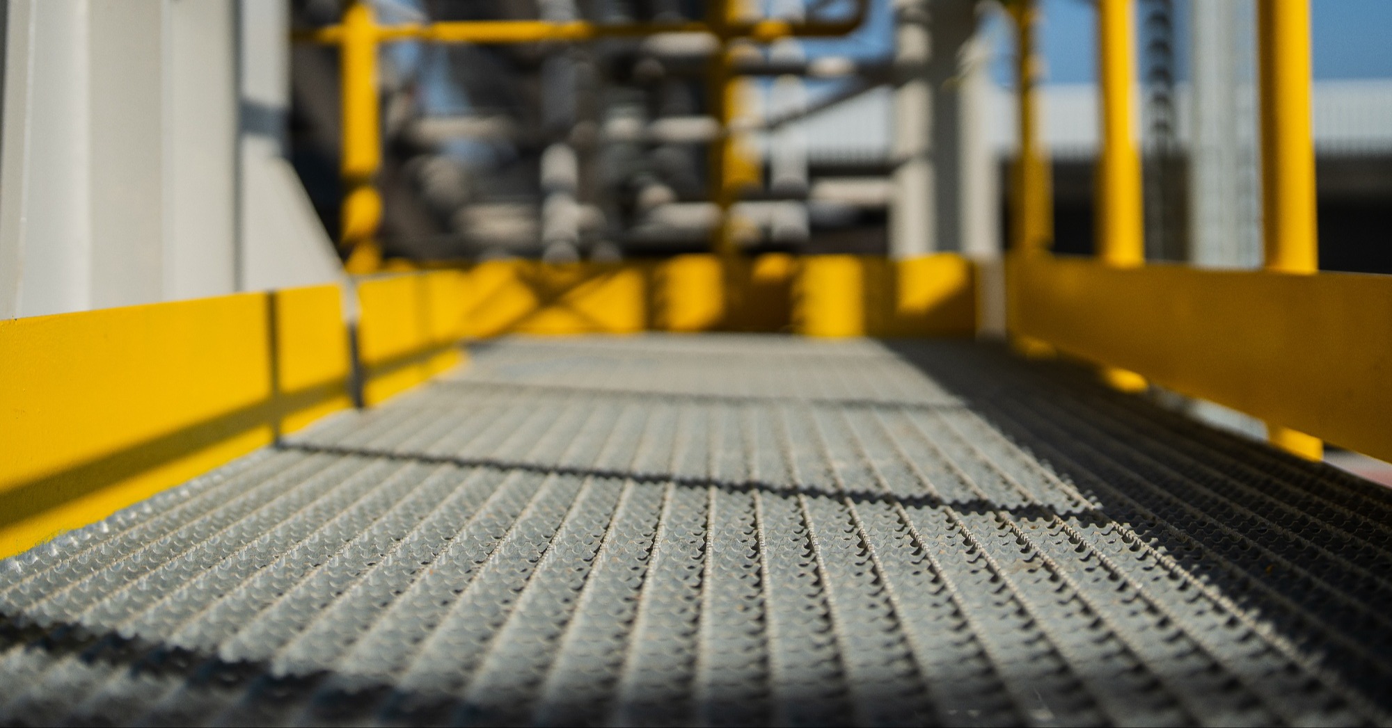
[[[1008,275],[1018,333],[1392,460],[1392,276],[1051,256]]]

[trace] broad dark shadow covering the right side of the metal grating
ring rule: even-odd
[[[1105,389],[1080,365],[981,345],[885,346],[1219,609],[1392,710],[1392,490]]]

